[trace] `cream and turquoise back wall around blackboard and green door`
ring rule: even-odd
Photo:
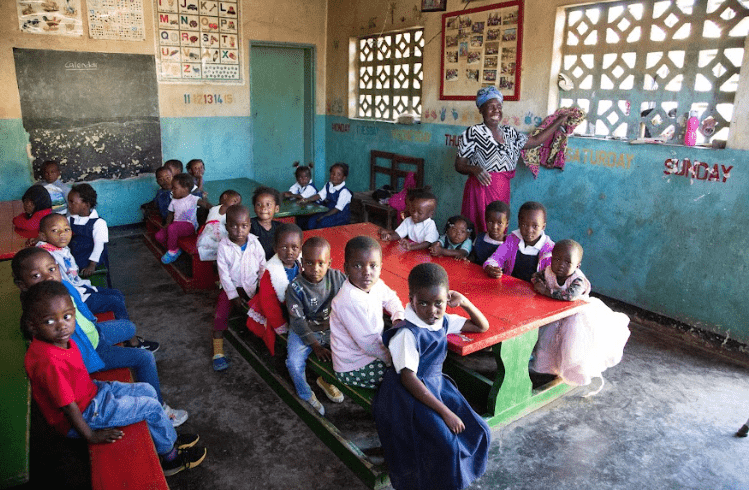
[[[21,106],[13,62],[13,48],[54,49],[107,53],[155,53],[153,2],[144,1],[146,39],[139,42],[100,41],[33,35],[18,29],[16,2],[0,2],[0,200],[19,199],[33,183],[26,154],[29,135],[21,121]],[[242,0],[243,57],[249,60],[251,41],[294,43],[315,49],[315,160],[322,180],[325,161],[325,52],[326,0]],[[83,30],[88,25],[84,12]],[[159,84],[162,156],[187,163],[202,158],[207,180],[253,177],[250,63],[244,64],[244,83]],[[186,103],[190,94],[193,103]],[[195,104],[196,95],[220,94],[223,104]],[[284,162],[284,165],[289,162]],[[293,173],[289,171],[289,185]],[[91,184],[99,193],[99,212],[110,225],[141,220],[140,204],[153,198],[157,188],[153,174],[124,180],[98,180]]]

